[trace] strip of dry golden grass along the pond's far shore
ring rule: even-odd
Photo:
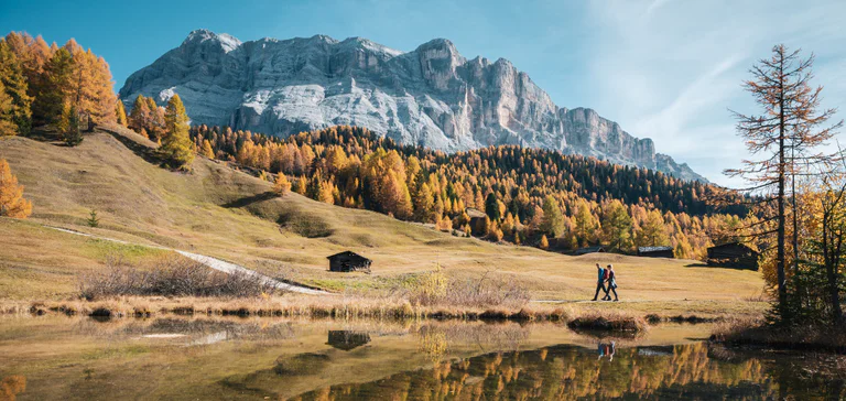
[[[562,322],[572,328],[644,330],[661,322],[722,322],[760,316],[762,305],[746,302],[729,311],[719,302],[529,302],[510,306],[420,305],[400,297],[263,296],[248,299],[118,296],[97,301],[6,301],[2,314],[66,314],[101,317],[164,315],[305,316],[453,321]]]

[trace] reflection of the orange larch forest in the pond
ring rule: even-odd
[[[489,354],[369,383],[332,386],[297,400],[772,399],[777,386],[757,359],[713,359],[706,344],[617,349],[614,361],[575,346]],[[651,349],[654,351],[655,349]]]

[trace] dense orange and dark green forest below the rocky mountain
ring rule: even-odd
[[[154,131],[132,116],[129,124]],[[741,239],[746,215],[740,202],[715,208],[708,197],[725,194],[717,186],[556,151],[503,145],[445,153],[358,127],[279,139],[198,126],[191,136],[199,154],[269,181],[290,176],[292,191],[319,202],[544,249],[670,246],[679,258],[704,259],[714,243]]]

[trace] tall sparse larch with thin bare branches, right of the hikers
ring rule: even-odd
[[[827,128],[824,126],[836,112],[836,109],[820,111],[823,87],[812,87],[814,77],[812,67],[813,54],[807,58],[800,57],[801,50],[789,52],[784,45],[772,47],[772,56],[762,58],[752,66],[752,79],[744,83],[744,88],[752,94],[756,102],[763,109],[760,115],[742,115],[733,111],[737,119],[737,130],[746,140],[749,152],[757,156],[755,160],[744,160],[740,169],[726,170],[729,176],[740,176],[750,184],[745,188],[750,193],[763,195],[761,202],[777,204],[776,216],[767,220],[776,220],[776,229],[760,235],[777,235],[777,274],[779,304],[787,303],[785,274],[785,225],[787,203],[792,202],[794,215],[793,248],[798,257],[798,221],[795,177],[810,174],[810,166],[825,163],[832,155],[816,152],[843,126],[843,121]],[[792,180],[791,180],[792,178]],[[787,184],[791,181],[792,192],[789,194]]]

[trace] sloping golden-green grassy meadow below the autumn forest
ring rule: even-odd
[[[453,237],[296,194],[276,197],[270,183],[202,158],[191,174],[171,172],[150,155],[153,143],[128,130],[87,134],[76,148],[45,137],[0,139],[0,158],[34,204],[28,220],[0,219],[0,299],[68,296],[78,275],[102,269],[109,254],[143,265],[162,252],[43,225],[189,250],[332,290],[388,286],[441,263],[453,275],[512,274],[534,299],[584,300],[593,296],[595,262],[615,264],[627,300],[731,302],[762,288],[757,272],[617,254],[567,257]],[[98,228],[86,225],[90,209],[100,217]],[[347,249],[373,259],[373,273],[327,272],[325,257]]]

